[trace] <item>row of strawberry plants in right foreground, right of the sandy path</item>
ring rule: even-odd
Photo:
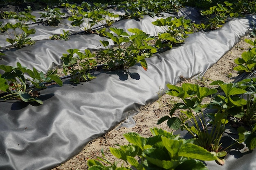
[[[256,41],[245,40],[254,48],[243,52],[235,62],[234,68],[239,73],[247,72],[256,76]],[[243,143],[253,150],[256,147],[256,78],[246,78],[236,83],[213,81],[215,88],[201,87],[198,84],[183,83],[182,86],[168,84],[166,94],[181,99],[170,109],[169,116],[159,119],[157,124],[167,121],[170,129],[185,130],[191,139],[182,139],[162,129],[153,128],[153,137],[142,137],[137,133],[126,133],[128,145],[110,148],[112,155],[124,161],[117,166],[117,161],[108,161],[103,157],[88,160],[89,170],[138,170],[149,169],[198,169],[206,170],[202,161],[215,160],[225,163],[228,150],[238,143]],[[210,102],[203,102],[204,98]],[[209,109],[204,113],[204,109]],[[174,113],[179,111],[180,116]],[[234,126],[235,125],[235,126]],[[222,135],[228,126],[238,131],[237,138],[223,148]],[[138,159],[139,158],[139,159]]]

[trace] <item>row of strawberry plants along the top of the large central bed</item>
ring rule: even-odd
[[[103,63],[103,69],[105,70],[127,70],[129,67],[140,63],[144,70],[148,69],[147,62],[145,58],[151,57],[154,53],[157,52],[159,48],[168,47],[171,48],[172,44],[179,44],[184,41],[186,38],[186,31],[188,29],[189,20],[184,20],[183,18],[171,18],[157,20],[153,23],[157,26],[162,26],[163,29],[166,29],[166,33],[159,33],[159,38],[157,39],[155,46],[152,46],[150,40],[154,40],[156,37],[151,37],[145,32],[141,31],[138,28],[130,28],[128,31],[131,34],[126,33],[123,29],[119,28],[110,28],[111,32],[106,31],[106,28],[103,28],[98,31],[101,36],[110,39],[115,46],[109,46],[109,41],[100,41],[102,46],[100,49],[92,53],[90,50],[85,49],[85,52],[81,52],[79,49],[69,49],[68,53],[63,53],[61,60],[63,61],[63,73],[65,75],[70,75],[70,81],[72,83],[80,83],[84,81],[90,81],[96,78],[91,72],[94,70],[99,63]],[[166,28],[164,28],[164,26]],[[184,29],[178,29],[185,27]],[[67,38],[65,31],[63,32],[62,38]],[[162,43],[166,41],[166,43]],[[123,44],[127,44],[126,47]],[[0,55],[4,55],[1,53]],[[42,88],[45,85],[42,83],[49,81],[56,81],[61,85],[61,80],[56,77],[56,72],[52,71],[54,74],[44,77],[43,73],[40,74],[33,69],[33,74],[29,69],[23,69],[20,63],[17,63],[18,67],[11,67],[0,65],[0,69],[5,73],[0,75],[2,78],[2,83],[0,90],[3,92],[8,92],[8,94],[2,96],[4,100],[8,99],[21,99],[24,102],[38,102],[42,104],[37,97],[34,96],[31,92],[35,88]],[[18,69],[18,71],[17,71]],[[28,74],[31,79],[25,80],[24,74]],[[11,76],[10,76],[11,75]],[[40,77],[38,77],[40,75]],[[40,79],[39,79],[40,78]],[[40,80],[40,81],[38,81]],[[33,84],[34,89],[31,91],[31,87],[25,83],[29,81],[29,84]],[[43,85],[43,86],[41,86]],[[22,88],[19,88],[21,87]],[[26,98],[24,97],[26,94]]]

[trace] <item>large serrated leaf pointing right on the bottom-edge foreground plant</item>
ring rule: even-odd
[[[213,155],[206,149],[190,143],[182,145],[180,147],[178,155],[182,157],[189,157],[189,158],[198,159],[202,161],[213,161],[217,159],[215,155]]]

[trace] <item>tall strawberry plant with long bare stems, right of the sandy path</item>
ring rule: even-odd
[[[170,110],[170,116],[162,117],[157,124],[167,120],[171,129],[188,131],[196,138],[195,141],[199,146],[215,152],[218,156],[218,163],[224,164],[224,159],[220,159],[220,157],[224,157],[227,152],[222,150],[220,139],[225,130],[225,125],[229,122],[227,118],[231,111],[246,105],[246,100],[237,96],[244,94],[246,91],[233,87],[233,84],[220,84],[225,96],[216,94],[216,89],[188,83],[182,84],[182,87],[170,84],[167,87],[169,90],[166,94],[177,96],[183,102],[176,103]],[[212,98],[210,103],[202,104],[203,98],[213,94],[215,97]],[[207,114],[211,118],[210,122],[203,113],[203,109],[206,107],[217,109],[216,112]],[[180,110],[182,113],[179,118],[173,116],[176,110]],[[187,121],[190,121],[192,125],[189,125]]]

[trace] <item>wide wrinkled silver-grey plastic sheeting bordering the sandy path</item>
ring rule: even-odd
[[[240,37],[249,33],[251,22],[256,23],[254,15],[231,20],[210,33],[191,34],[181,46],[146,59],[148,71],[137,64],[127,71],[95,71],[96,79],[78,85],[71,84],[67,78],[63,80],[63,87],[52,85],[42,90],[40,98],[44,104],[38,107],[23,102],[0,102],[0,169],[49,169],[65,162],[88,142],[137,114],[139,106],[155,101],[159,87],[166,89],[167,83],[176,84],[181,75],[202,76]],[[133,26],[139,26],[136,24]],[[145,26],[149,32],[155,29]],[[89,35],[83,36],[90,39]],[[67,47],[84,48],[82,43],[73,44],[70,40],[49,41],[55,45],[43,41],[42,46],[48,44],[45,53],[42,47],[40,56],[34,58],[22,59],[27,54],[37,55],[34,50],[40,48],[38,46],[14,50],[17,56],[13,58],[10,50],[8,62],[4,58],[0,64],[16,65],[16,61],[20,61],[29,68],[35,66],[45,71],[52,62],[60,63],[59,55]],[[69,42],[72,44],[68,45]],[[63,43],[67,43],[65,48]],[[97,44],[90,46],[89,43],[84,44],[96,48]],[[21,51],[24,54],[18,56]]]

